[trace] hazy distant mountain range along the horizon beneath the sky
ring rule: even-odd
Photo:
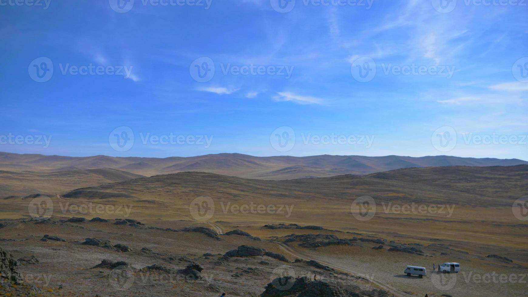
[[[0,152],[0,170],[6,171],[72,171],[111,168],[143,176],[203,171],[243,178],[285,180],[309,177],[366,175],[410,167],[439,166],[514,166],[528,165],[519,159],[427,157],[254,157],[242,154],[216,154],[196,157],[64,157]]]

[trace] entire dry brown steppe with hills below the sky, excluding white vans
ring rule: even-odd
[[[23,283],[0,294],[528,292],[525,161],[317,156],[285,164],[287,157],[221,154],[178,159],[191,163],[164,173],[161,160],[35,156],[2,156],[0,247],[39,262],[19,261]],[[103,260],[110,264],[95,267]],[[431,271],[444,262],[459,262],[460,273]],[[194,264],[200,269],[186,270]],[[427,275],[407,276],[406,265]],[[279,276],[311,283],[294,292],[274,282]]]

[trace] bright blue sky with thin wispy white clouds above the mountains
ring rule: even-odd
[[[0,0],[0,151],[528,159],[523,2],[119,1]]]

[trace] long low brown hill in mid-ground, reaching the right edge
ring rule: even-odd
[[[376,202],[511,206],[528,189],[528,165],[510,167],[428,167],[366,176],[342,175],[295,180],[258,180],[202,172],[157,175],[78,189],[74,198],[137,197],[160,203],[182,203],[202,196],[220,201],[284,200],[338,203],[369,195]],[[117,195],[117,196],[116,196]],[[512,200],[513,199],[513,200]]]

